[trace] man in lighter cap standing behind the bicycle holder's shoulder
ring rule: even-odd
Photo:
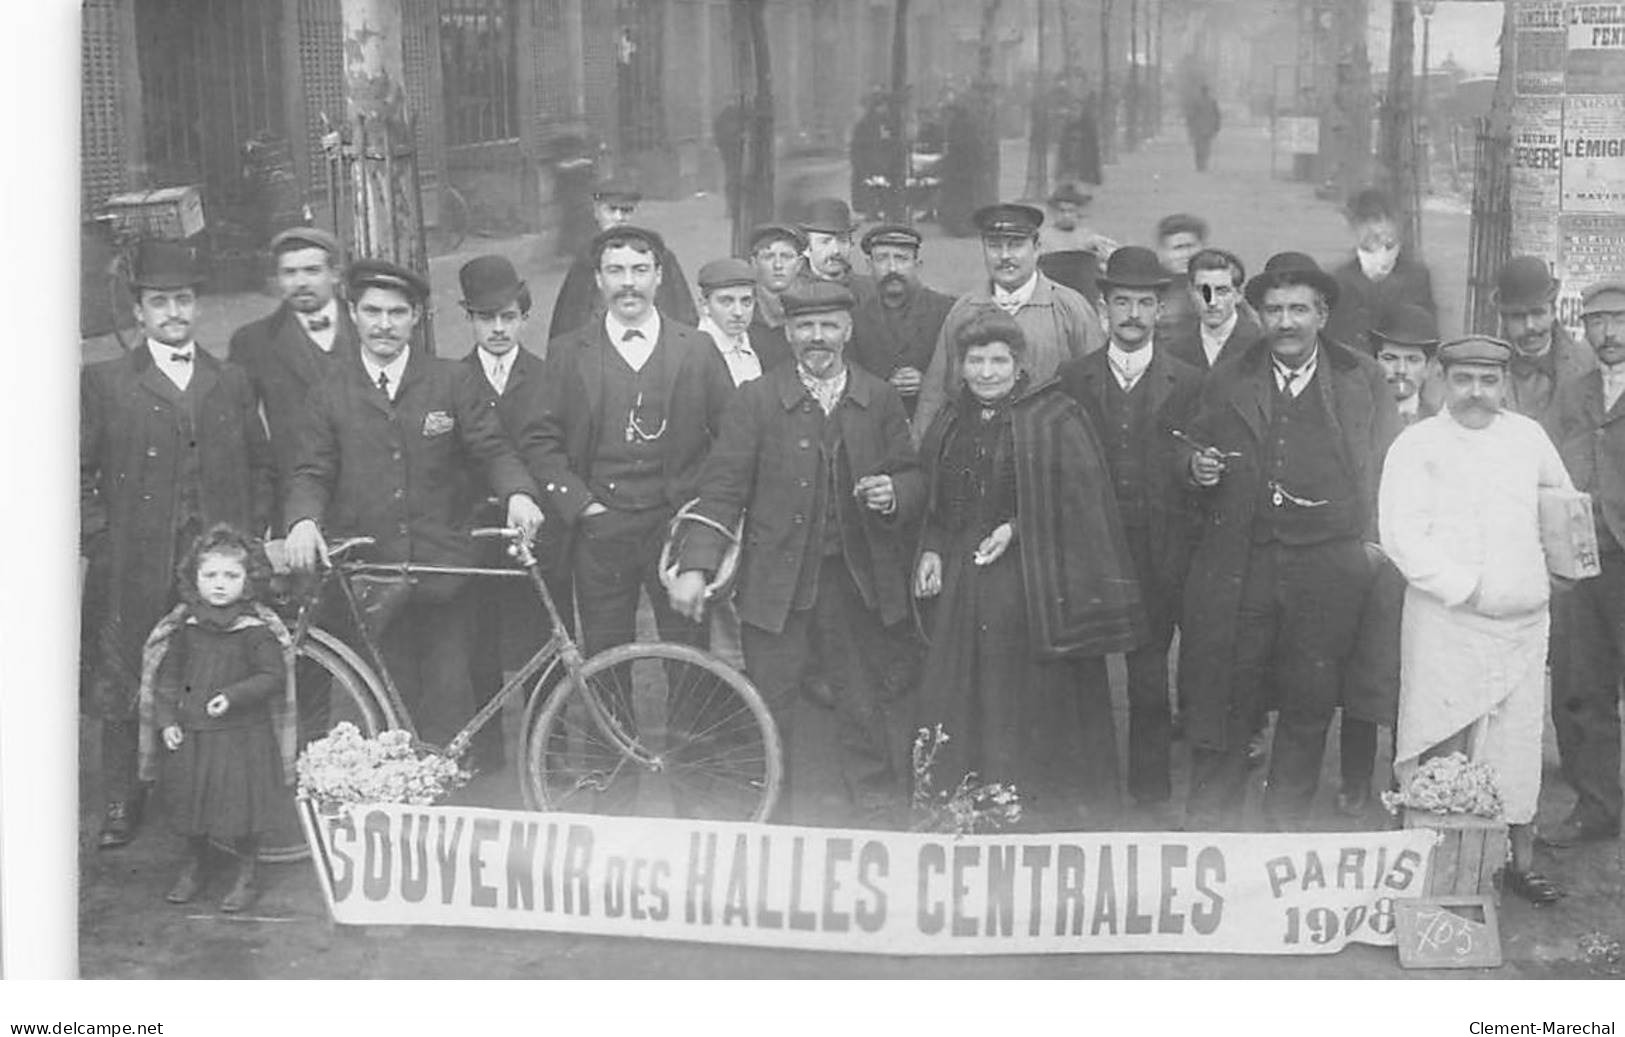
[[[309,414],[310,387],[356,359],[356,325],[338,297],[344,250],[320,228],[271,239],[281,304],[231,336],[231,361],[249,372],[276,455],[276,499],[288,492]],[[278,533],[281,515],[275,518]]]

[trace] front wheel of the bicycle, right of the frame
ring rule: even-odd
[[[743,673],[697,649],[627,644],[564,679],[525,731],[538,809],[765,821],[783,751]]]

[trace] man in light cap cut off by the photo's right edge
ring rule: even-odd
[[[1552,725],[1575,809],[1542,842],[1571,847],[1620,834],[1620,681],[1625,678],[1625,281],[1592,284],[1580,320],[1596,371],[1557,390],[1554,439],[1591,494],[1601,575],[1552,598]],[[1514,356],[1516,359],[1516,356]]]

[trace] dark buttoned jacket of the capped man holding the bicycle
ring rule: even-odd
[[[483,384],[468,364],[414,346],[392,403],[359,359],[344,364],[310,392],[288,525],[314,518],[335,535],[374,536],[380,561],[473,564],[468,530],[488,496],[540,501]]]

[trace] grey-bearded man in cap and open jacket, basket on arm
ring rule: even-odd
[[[699,510],[722,528],[746,517],[736,595],[744,663],[791,746],[788,780],[834,764],[860,819],[879,824],[897,819],[905,793],[889,723],[889,702],[905,689],[887,675],[910,616],[912,545],[900,532],[920,515],[925,476],[902,398],[845,361],[852,306],[840,284],[786,294],[796,362],[734,395]],[[674,610],[702,614],[723,546],[712,530],[687,541]],[[814,650],[835,694],[838,746],[791,736]]]

